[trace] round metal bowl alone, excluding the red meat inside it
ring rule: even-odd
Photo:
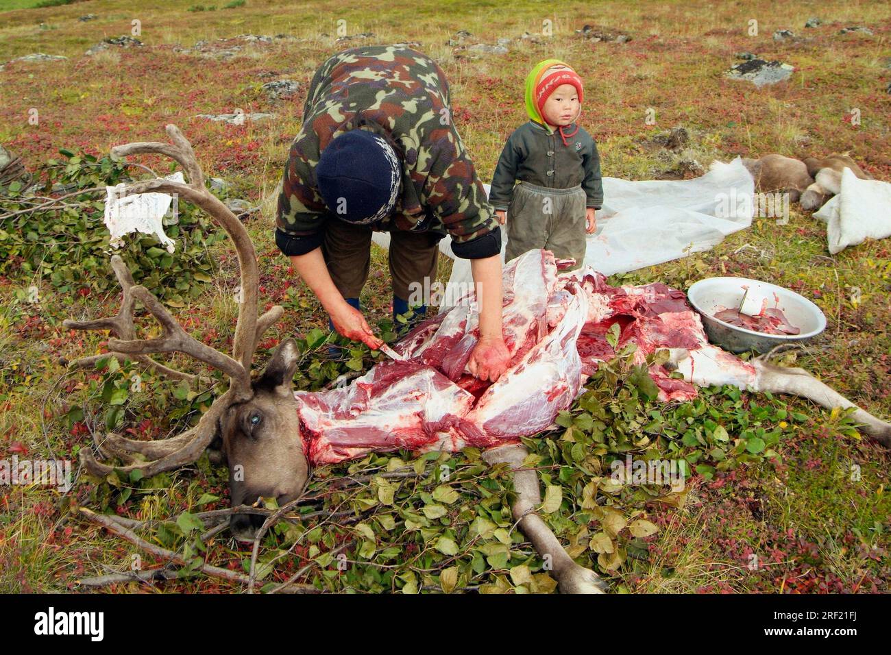
[[[749,293],[773,299],[770,307],[777,307],[786,315],[789,323],[801,330],[798,334],[764,334],[737,327],[715,318],[715,314],[728,307],[740,307],[743,294]],[[687,291],[690,304],[702,315],[702,324],[708,340],[732,353],[756,350],[769,351],[782,343],[805,342],[826,329],[826,316],[804,296],[795,291],[769,282],[749,280],[745,277],[709,277],[695,282]]]

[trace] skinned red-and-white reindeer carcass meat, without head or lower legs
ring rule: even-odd
[[[547,429],[601,362],[616,356],[610,333],[618,348],[634,344],[637,363],[668,351],[668,363],[649,368],[661,400],[695,397],[694,385],[754,385],[751,364],[708,343],[683,291],[662,283],[612,287],[589,266],[560,273],[567,264],[547,250],[529,250],[504,266],[503,335],[511,361],[495,383],[467,368],[479,336],[470,292],[395,345],[405,360],[376,364],[343,389],[297,392],[310,462],[398,448],[495,446]]]

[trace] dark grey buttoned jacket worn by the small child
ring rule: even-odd
[[[571,133],[574,125],[564,130]],[[514,130],[498,158],[489,204],[506,211],[514,183],[522,180],[549,189],[569,189],[581,184],[587,196],[585,206],[601,209],[603,185],[597,143],[582,127],[567,141],[568,145],[564,145],[559,131],[549,133],[532,120]]]

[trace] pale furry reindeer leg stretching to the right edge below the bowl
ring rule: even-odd
[[[756,391],[790,394],[813,400],[827,409],[835,407],[856,407],[854,419],[863,424],[863,431],[875,438],[882,446],[891,448],[891,423],[876,418],[871,413],[854,405],[838,391],[817,380],[803,368],[787,368],[756,360]]]

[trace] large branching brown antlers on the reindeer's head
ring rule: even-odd
[[[102,357],[115,356],[122,359],[129,356],[137,362],[151,366],[159,373],[179,379],[194,380],[194,375],[176,371],[149,357],[152,354],[181,352],[225,373],[229,377],[230,385],[225,394],[218,397],[208,412],[204,413],[198,425],[179,437],[152,442],[135,441],[121,438],[116,434],[108,434],[104,441],[97,440],[96,445],[103,454],[117,454],[132,459],[130,454],[138,453],[151,458],[151,462],[137,462],[120,468],[111,467],[96,462],[93,455],[86,449],[81,451],[84,464],[96,474],[104,475],[119,468],[123,471],[141,469],[143,474],[148,476],[161,471],[171,471],[185,463],[194,462],[217,433],[218,422],[225,407],[251,397],[250,364],[257,349],[257,343],[262,334],[281,317],[283,312],[282,307],[275,306],[266,314],[257,317],[259,271],[257,269],[257,253],[254,250],[253,242],[250,241],[248,231],[232,211],[205,188],[204,174],[195,159],[192,144],[176,126],[168,125],[166,129],[172,143],[127,143],[112,148],[111,154],[116,157],[126,157],[131,154],[155,153],[166,155],[179,162],[188,177],[187,184],[156,178],[127,184],[127,193],[177,194],[200,209],[204,209],[232,239],[241,270],[241,293],[239,294],[238,321],[235,325],[233,339],[233,355],[228,356],[210,348],[185,332],[182,325],[176,322],[176,319],[170,315],[159,299],[143,286],[135,284],[133,275],[127,269],[124,261],[116,255],[111,258],[111,267],[124,290],[118,314],[93,321],[69,320],[62,323],[64,327],[73,330],[110,330],[114,334],[114,338],[109,340],[110,354],[83,357],[70,365],[85,367],[95,364]],[[143,303],[143,306],[160,323],[163,329],[160,337],[145,340],[136,339],[133,316],[136,300]]]

